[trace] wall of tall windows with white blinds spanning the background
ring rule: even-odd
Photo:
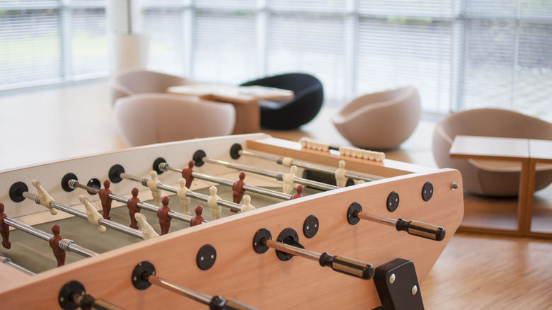
[[[105,0],[0,0],[0,90],[108,73]],[[552,2],[142,0],[149,69],[240,84],[304,71],[330,105],[405,84],[425,112],[552,121]]]

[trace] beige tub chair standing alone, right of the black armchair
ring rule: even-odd
[[[345,139],[363,149],[395,149],[410,137],[420,121],[420,96],[406,86],[360,96],[333,117]]]

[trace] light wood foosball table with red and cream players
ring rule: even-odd
[[[0,189],[1,309],[423,309],[464,214],[456,170],[267,134],[1,171]]]

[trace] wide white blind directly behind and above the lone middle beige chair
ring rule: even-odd
[[[392,3],[360,2],[375,15],[358,21],[355,96],[411,84],[418,88],[423,110],[447,113],[453,86],[454,23],[447,18],[454,11],[452,3],[409,3],[401,2],[394,11],[408,15],[380,17],[393,11]]]

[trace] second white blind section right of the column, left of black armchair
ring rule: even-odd
[[[193,77],[198,81],[241,84],[257,72],[255,13],[195,12]]]

